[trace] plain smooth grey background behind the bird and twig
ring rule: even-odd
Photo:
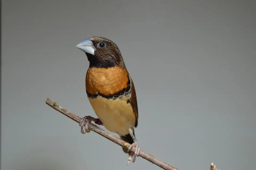
[[[126,166],[121,147],[45,104],[96,117],[75,47],[95,35],[134,80],[143,151],[180,170],[253,169],[255,26],[253,1],[2,1],[1,169],[160,169]]]

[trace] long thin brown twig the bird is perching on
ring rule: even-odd
[[[45,102],[47,105],[49,105],[50,107],[54,108],[55,110],[57,110],[58,112],[62,113],[63,115],[69,117],[70,119],[74,120],[75,122],[79,123],[81,121],[82,118],[80,118],[79,116],[71,113],[70,111],[68,111],[67,109],[65,109],[64,107],[62,107],[61,105],[59,105],[56,102],[51,101],[49,98],[46,99]],[[91,131],[94,131],[96,133],[98,133],[99,135],[111,140],[112,142],[120,145],[121,147],[127,147],[129,148],[130,144],[126,143],[125,141],[119,139],[118,137],[111,135],[110,133],[108,133],[107,131],[99,128],[98,126],[89,123],[88,128],[91,129]],[[135,147],[133,147],[131,149],[132,152],[135,151]],[[171,165],[168,165],[167,163],[157,159],[155,156],[152,156],[146,152],[143,152],[142,150],[139,152],[139,156],[141,156],[142,158],[150,161],[153,164],[156,164],[157,166],[165,169],[165,170],[178,170],[177,168],[172,167]]]

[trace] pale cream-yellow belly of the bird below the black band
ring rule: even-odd
[[[123,136],[129,133],[130,127],[134,126],[136,117],[130,103],[127,104],[126,100],[105,99],[101,96],[88,99],[107,130]]]

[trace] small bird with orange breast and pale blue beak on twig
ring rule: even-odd
[[[79,126],[81,133],[89,133],[91,121],[103,125],[108,131],[117,133],[131,144],[123,148],[129,153],[128,163],[133,156],[139,156],[140,146],[134,128],[138,126],[138,104],[133,80],[123,60],[118,46],[108,38],[94,36],[76,45],[89,61],[85,87],[89,102],[98,118],[85,116]],[[85,126],[85,131],[83,127]],[[131,148],[135,146],[135,152]]]

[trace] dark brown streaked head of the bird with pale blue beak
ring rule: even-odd
[[[125,68],[122,54],[117,45],[105,37],[91,37],[76,45],[85,52],[90,67],[113,67]]]

